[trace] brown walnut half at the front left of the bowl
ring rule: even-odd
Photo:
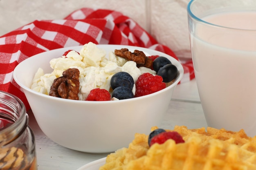
[[[49,95],[64,99],[78,100],[79,93],[79,70],[69,68],[63,71],[62,77],[54,79]]]

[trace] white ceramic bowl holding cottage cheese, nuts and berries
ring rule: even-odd
[[[41,130],[57,144],[73,150],[92,153],[113,152],[134,139],[136,132],[150,132],[159,126],[167,111],[173,90],[182,79],[184,70],[180,62],[159,51],[124,45],[97,45],[106,54],[115,49],[127,48],[144,51],[149,55],[167,57],[177,66],[175,82],[156,93],[119,101],[78,101],[44,95],[30,89],[38,68],[51,73],[49,61],[65,51],[80,51],[82,46],[55,49],[29,57],[13,71],[13,78],[25,93]]]

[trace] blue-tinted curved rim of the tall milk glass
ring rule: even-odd
[[[193,20],[197,20],[198,22],[201,22],[201,23],[209,25],[209,26],[220,27],[220,28],[223,28],[223,29],[240,30],[240,31],[256,31],[256,29],[238,29],[238,28],[232,28],[232,27],[228,27],[228,26],[221,26],[221,25],[218,25],[218,24],[213,24],[211,22],[204,21],[204,20],[198,18],[197,16],[195,16],[193,14],[193,12],[191,11],[191,5],[195,1],[196,0],[190,0],[189,3],[187,4],[187,7],[186,7],[187,14]]]

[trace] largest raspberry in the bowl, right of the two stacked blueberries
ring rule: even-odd
[[[159,75],[144,73],[139,76],[136,82],[135,97],[149,95],[166,87],[163,78]]]

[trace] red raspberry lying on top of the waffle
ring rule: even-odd
[[[176,144],[184,143],[185,142],[182,139],[182,136],[178,132],[175,132],[175,131],[172,131],[172,132],[162,132],[162,133],[159,133],[158,135],[155,135],[151,139],[149,146],[152,146],[155,143],[157,143],[157,144],[164,144],[164,142],[167,141],[168,139],[173,139]]]

